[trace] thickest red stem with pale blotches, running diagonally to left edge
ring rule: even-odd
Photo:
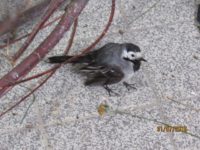
[[[13,87],[8,87],[9,83],[15,83],[16,81],[22,79],[59,42],[64,33],[69,30],[73,21],[81,13],[87,2],[88,0],[73,0],[51,34],[36,48],[33,53],[31,53],[25,60],[0,79],[0,97]]]

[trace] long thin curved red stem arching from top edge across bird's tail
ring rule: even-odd
[[[108,29],[109,29],[109,27],[110,27],[110,25],[111,25],[111,23],[112,23],[112,20],[113,20],[113,17],[114,17],[114,13],[115,13],[115,0],[112,0],[111,13],[110,13],[109,21],[108,21],[106,27],[104,28],[104,30],[103,30],[103,32],[100,34],[100,36],[99,36],[89,47],[87,47],[86,49],[82,50],[82,54],[83,54],[84,52],[87,52],[87,51],[91,50],[91,49],[103,38],[103,36],[107,33],[107,31],[108,31]],[[71,39],[72,39],[72,38],[71,38]],[[72,40],[73,40],[73,39],[72,39]],[[72,42],[70,42],[70,43],[72,43]],[[69,47],[69,46],[70,46],[70,45],[68,45],[68,47]],[[68,48],[68,49],[69,49],[69,48]],[[78,55],[78,56],[79,56],[79,55]],[[78,57],[78,56],[76,56],[76,57]],[[69,61],[68,61],[68,62],[69,62]],[[42,72],[42,73],[39,73],[39,74],[36,74],[36,75],[31,76],[31,77],[29,77],[29,78],[26,78],[26,79],[24,79],[24,80],[21,80],[21,81],[15,82],[15,83],[10,83],[8,86],[13,86],[13,85],[20,84],[20,83],[23,83],[23,82],[26,82],[26,81],[29,81],[29,80],[32,80],[32,79],[35,79],[35,78],[39,78],[39,77],[41,77],[41,76],[43,76],[43,75],[45,75],[45,74],[48,74],[48,73],[54,71],[54,70],[57,69],[57,68],[59,68],[59,66],[55,66],[55,67],[53,67],[53,68],[51,68],[51,69],[49,69],[49,70],[46,70],[46,71],[44,71],[44,72]]]

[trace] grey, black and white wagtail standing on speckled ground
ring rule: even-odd
[[[47,59],[49,63],[64,63],[74,56],[52,56]],[[108,85],[123,82],[127,89],[135,88],[127,80],[141,67],[143,58],[139,46],[132,43],[107,43],[99,49],[87,52],[69,63],[79,64],[80,73],[86,75],[86,86],[101,85],[111,95],[115,93]],[[115,93],[117,94],[117,93]]]

